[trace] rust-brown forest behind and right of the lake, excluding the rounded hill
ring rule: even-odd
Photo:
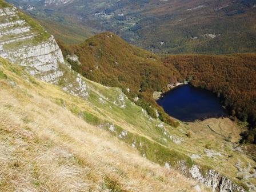
[[[256,143],[256,54],[171,55],[164,62],[193,86],[216,93],[232,116],[250,122],[246,139]]]

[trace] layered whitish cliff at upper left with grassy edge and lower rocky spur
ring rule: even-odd
[[[16,7],[0,9],[0,57],[25,67],[25,70],[45,82],[59,85],[67,93],[87,99],[89,89],[79,74],[65,63],[53,36],[38,31],[19,17]],[[45,33],[46,38],[37,37]],[[69,59],[78,61],[73,56]]]

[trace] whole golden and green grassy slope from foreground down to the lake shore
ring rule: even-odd
[[[174,171],[163,171],[138,154],[144,154],[151,162],[160,165],[168,162],[174,168],[179,167],[181,160],[189,167],[198,163],[202,169],[211,167],[237,183],[255,184],[253,178],[237,179],[238,171],[234,167],[238,159],[242,166],[247,163],[254,166],[255,162],[234,151],[233,143],[211,132],[206,125],[201,126],[204,134],[197,134],[197,125],[181,123],[175,129],[163,123],[164,127],[158,127],[161,121],[150,120],[141,107],[128,99],[125,98],[125,109],[114,105],[113,101],[117,101],[121,94],[119,89],[107,88],[86,79],[90,89],[87,101],[66,94],[56,86],[39,82],[4,60],[1,60],[0,74],[1,153],[6,157],[1,159],[1,170],[5,175],[0,186],[3,190],[17,187],[11,179],[13,177],[19,178],[19,186],[25,189],[74,190],[82,187],[92,190],[175,191],[185,187],[192,190],[187,181],[180,182],[183,179],[180,175]],[[66,74],[65,78],[69,75]],[[113,132],[110,125],[115,127]],[[235,129],[239,131],[239,127]],[[124,130],[127,135],[119,138]],[[190,137],[187,137],[188,132]],[[15,133],[21,136],[17,138]],[[176,144],[169,135],[182,142]],[[133,143],[137,152],[125,143]],[[206,145],[225,156],[208,157],[204,152]],[[192,161],[189,158],[191,154],[201,155],[201,158]],[[19,174],[14,171],[17,169]],[[22,177],[23,173],[26,177]],[[47,173],[54,176],[47,176]],[[42,174],[46,176],[42,177]],[[70,183],[73,185],[68,185]]]

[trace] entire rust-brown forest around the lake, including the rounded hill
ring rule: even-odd
[[[221,97],[230,115],[250,122],[245,139],[255,142],[256,54],[235,55],[170,55],[159,56],[131,46],[113,33],[102,33],[81,45],[65,46],[63,54],[73,69],[103,85],[121,87],[131,99],[165,122],[173,121],[154,101],[154,91],[185,79],[193,86],[213,91]],[[77,55],[79,62],[67,55]]]

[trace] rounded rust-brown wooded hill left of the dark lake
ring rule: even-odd
[[[157,107],[165,121],[169,117],[155,103],[153,91],[161,91],[168,83],[182,81],[174,67],[162,65],[161,58],[123,41],[113,33],[102,33],[87,39],[81,45],[67,47],[59,43],[73,69],[84,77],[103,85],[121,87],[130,99],[156,117]],[[79,62],[67,55],[77,55]],[[145,101],[149,101],[148,105]]]

